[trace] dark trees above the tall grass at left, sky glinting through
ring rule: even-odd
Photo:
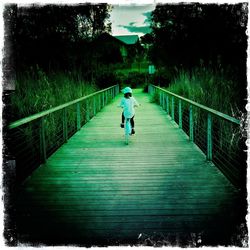
[[[46,71],[72,70],[89,42],[111,31],[107,4],[8,5],[5,8],[9,40],[15,44],[16,70],[38,64]]]

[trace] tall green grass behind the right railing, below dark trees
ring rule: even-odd
[[[222,113],[240,117],[241,86],[230,75],[230,69],[197,67],[191,73],[181,70],[168,90]]]

